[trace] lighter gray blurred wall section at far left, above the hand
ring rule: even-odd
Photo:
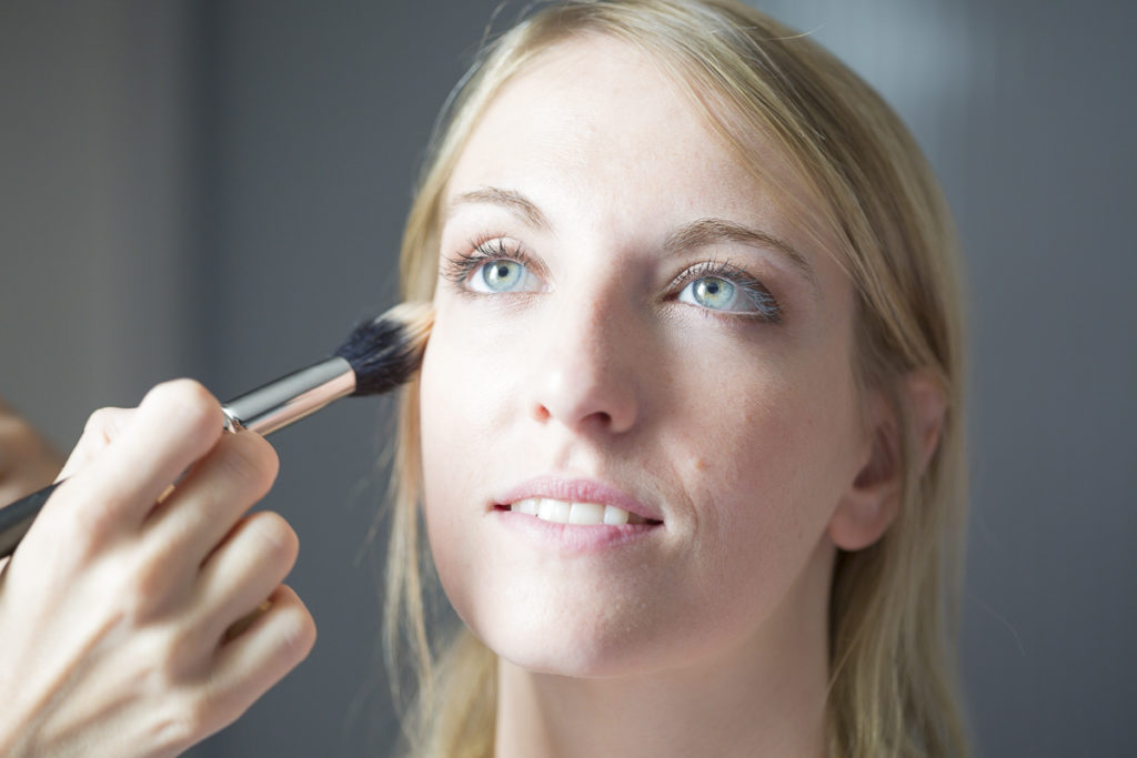
[[[196,44],[176,2],[0,2],[0,394],[64,449],[200,364]]]

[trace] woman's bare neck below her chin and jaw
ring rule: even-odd
[[[816,575],[802,578],[828,588],[831,561],[815,563]],[[823,600],[807,603],[796,594],[752,639],[711,660],[611,678],[500,660],[497,758],[824,756],[828,592],[806,593]]]

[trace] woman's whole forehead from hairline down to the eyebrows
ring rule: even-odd
[[[814,224],[821,206],[785,155],[757,131],[732,128],[744,159],[661,60],[600,34],[543,50],[491,99],[443,202],[478,188],[515,190],[542,208],[579,210],[573,224],[587,214],[595,228],[647,245],[652,226],[729,218],[789,240],[814,268],[844,278],[833,238]]]

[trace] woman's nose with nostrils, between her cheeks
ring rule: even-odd
[[[631,430],[640,415],[646,355],[633,318],[592,302],[562,307],[549,324],[543,349],[533,355],[532,417],[580,433]]]

